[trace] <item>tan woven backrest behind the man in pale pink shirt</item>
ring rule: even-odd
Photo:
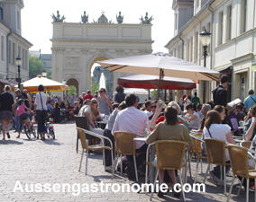
[[[135,155],[136,144],[133,138],[137,135],[123,131],[114,132],[114,142],[117,154]]]

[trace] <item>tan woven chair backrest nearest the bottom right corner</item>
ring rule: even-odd
[[[247,149],[238,145],[227,145],[233,175],[249,179]]]

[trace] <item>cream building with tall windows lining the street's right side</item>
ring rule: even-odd
[[[194,10],[189,10],[193,6]],[[207,48],[206,67],[230,77],[229,100],[246,97],[255,89],[256,3],[249,0],[173,0],[175,37],[165,46],[174,57],[203,66],[203,48],[199,40],[205,29],[212,33]],[[187,14],[179,14],[187,11]],[[187,15],[191,16],[187,18]],[[206,101],[215,82],[206,82]],[[199,97],[203,88],[197,85]],[[177,93],[178,94],[178,93]],[[178,94],[179,95],[179,94]]]

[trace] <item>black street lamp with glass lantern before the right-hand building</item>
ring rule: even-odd
[[[200,33],[200,42],[204,48],[204,66],[206,67],[207,48],[211,42],[211,33],[209,31],[202,31]],[[203,103],[206,103],[206,81],[203,82]]]

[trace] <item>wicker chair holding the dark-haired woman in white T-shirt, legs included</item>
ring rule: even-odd
[[[226,193],[226,176],[225,176],[225,166],[230,165],[230,163],[225,162],[225,142],[217,139],[207,138],[206,143],[206,153],[208,160],[207,173],[210,170],[210,164],[216,164],[221,166],[221,181],[223,184],[223,169],[224,166],[224,194]],[[206,182],[206,177],[204,183]]]

